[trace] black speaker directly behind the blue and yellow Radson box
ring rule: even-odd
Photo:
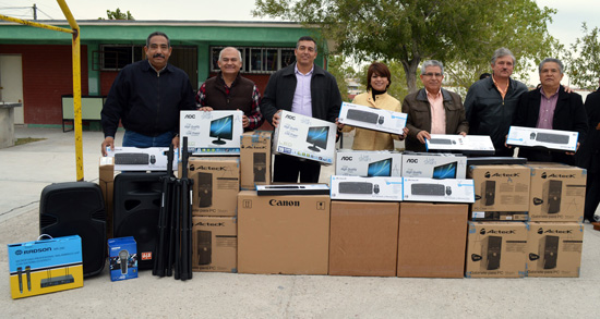
[[[51,184],[41,191],[39,233],[80,235],[83,275],[100,273],[106,263],[106,211],[100,186],[89,182]]]

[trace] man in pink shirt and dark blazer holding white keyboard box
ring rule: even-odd
[[[588,119],[581,96],[566,93],[561,85],[563,63],[557,59],[544,59],[539,66],[541,86],[524,93],[518,102],[513,125],[547,130],[578,132],[578,143],[586,139]],[[530,161],[575,164],[574,152],[559,152],[519,148],[519,157]]]

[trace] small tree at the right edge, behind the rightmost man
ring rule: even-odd
[[[588,29],[583,23],[584,36],[575,39],[571,50],[565,53],[566,73],[574,86],[595,89],[600,76],[600,29]]]

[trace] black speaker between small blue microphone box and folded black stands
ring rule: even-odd
[[[115,177],[115,237],[133,236],[137,268],[152,269],[158,243],[158,214],[165,172],[127,172]]]

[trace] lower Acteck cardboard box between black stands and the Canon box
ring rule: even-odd
[[[238,219],[194,217],[192,270],[238,272]]]

